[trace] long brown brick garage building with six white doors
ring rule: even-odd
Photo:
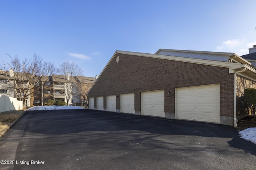
[[[241,82],[255,80],[252,63],[234,53],[116,51],[88,92],[89,108],[236,126],[246,115],[234,107]]]

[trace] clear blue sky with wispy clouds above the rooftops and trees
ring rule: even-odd
[[[116,50],[248,54],[255,0],[0,0],[0,63],[39,55],[99,75]]]

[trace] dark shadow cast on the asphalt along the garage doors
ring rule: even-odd
[[[172,141],[171,145],[182,146],[183,143],[188,141],[194,144],[204,143],[202,140],[206,140],[207,143],[210,143],[212,140],[212,146],[223,145],[222,142],[216,140],[223,138],[223,140],[227,140],[224,142],[228,143],[230,147],[256,155],[256,145],[241,139],[236,129],[228,125],[90,109],[27,111],[22,118],[29,119],[25,131],[35,133],[36,136],[45,134],[48,137],[52,135],[62,135],[64,137],[65,134],[67,136],[78,133],[83,135],[86,132],[88,137],[90,134],[94,137],[97,134],[100,138],[92,138],[95,141],[91,142],[98,143],[99,145],[104,145],[108,138],[113,140],[113,136],[120,138],[120,143],[132,136],[131,141],[128,142],[140,143],[147,141],[150,143],[150,140],[157,141],[159,139],[157,141],[158,146],[156,147],[161,147],[161,143],[170,144],[170,141]],[[16,127],[14,126],[13,128]],[[190,138],[190,136],[193,136],[193,138]],[[200,138],[199,140],[198,137],[207,138]],[[90,137],[87,140],[90,140]]]

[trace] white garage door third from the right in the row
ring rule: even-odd
[[[122,113],[135,113],[134,110],[134,93],[121,94],[121,112]]]

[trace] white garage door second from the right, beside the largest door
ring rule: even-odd
[[[164,117],[164,90],[141,93],[142,115]]]

